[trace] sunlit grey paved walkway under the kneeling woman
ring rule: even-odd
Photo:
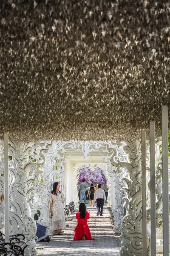
[[[73,241],[74,229],[77,225],[75,214],[72,221],[61,236],[53,236],[51,241],[38,256],[120,256],[120,240],[114,236],[107,207],[104,207],[103,217],[96,216],[96,207],[88,207],[90,220],[88,226],[94,241]],[[38,244],[37,244],[38,245]]]

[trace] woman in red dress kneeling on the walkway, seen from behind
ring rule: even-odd
[[[76,213],[77,227],[74,230],[73,240],[94,240],[88,227],[89,212],[84,203],[79,204],[79,212]]]

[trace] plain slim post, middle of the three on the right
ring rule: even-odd
[[[151,254],[156,256],[155,122],[150,121]]]

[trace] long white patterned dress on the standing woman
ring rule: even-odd
[[[64,215],[64,208],[63,203],[64,196],[62,193],[57,193],[57,195],[50,194],[50,203],[53,203],[52,210],[53,216],[51,218],[51,230],[59,230],[59,229],[66,229],[65,224],[65,215]]]

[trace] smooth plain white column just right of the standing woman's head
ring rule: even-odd
[[[71,201],[74,201],[74,166],[70,160],[67,160],[65,165],[65,184],[66,184],[66,195],[65,201],[66,204],[69,204]],[[74,202],[76,204],[77,202]]]

